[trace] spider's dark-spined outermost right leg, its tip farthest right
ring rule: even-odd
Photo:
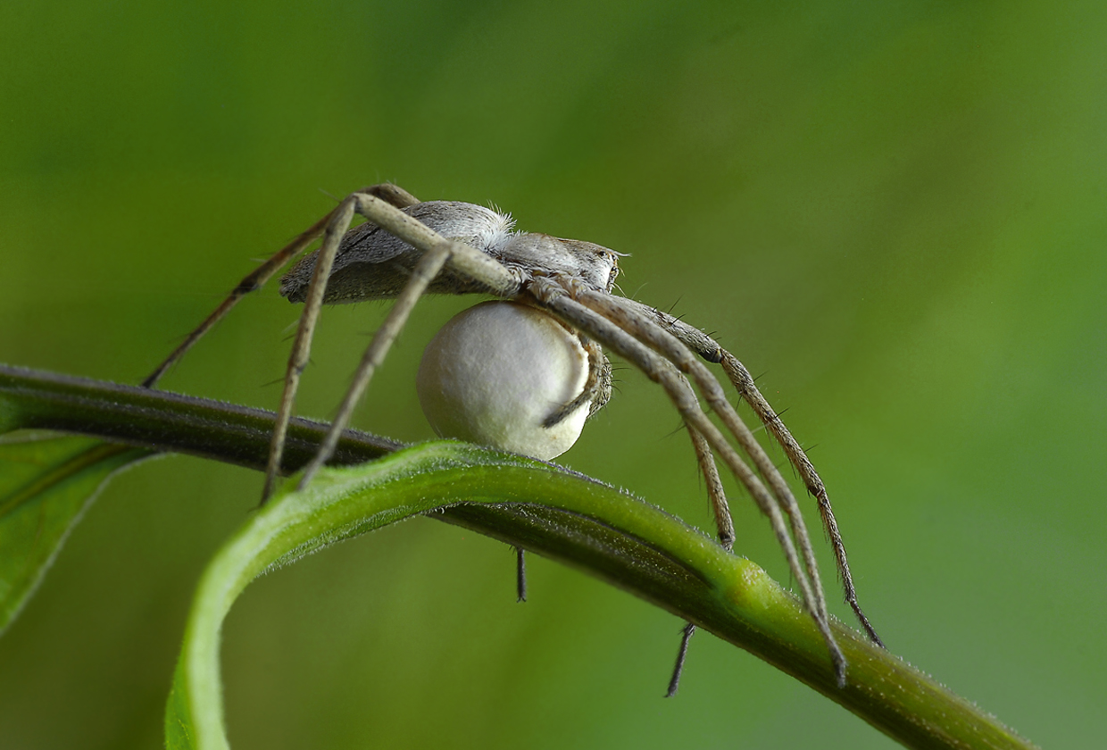
[[[799,473],[807,491],[815,496],[815,501],[819,508],[819,515],[823,521],[823,527],[826,531],[827,536],[830,538],[830,546],[834,549],[835,563],[838,568],[838,576],[841,579],[846,603],[853,610],[858,621],[860,621],[865,631],[868,634],[869,639],[877,646],[883,648],[883,643],[880,640],[880,636],[877,635],[876,629],[869,623],[869,618],[866,617],[865,612],[862,612],[861,606],[857,600],[857,589],[853,587],[853,577],[849,571],[849,559],[846,555],[846,545],[842,542],[841,533],[838,531],[838,521],[835,518],[834,507],[831,506],[830,499],[827,495],[826,485],[819,477],[818,472],[815,471],[815,466],[811,464],[810,459],[807,458],[807,453],[799,445],[799,442],[792,435],[788,428],[784,424],[780,418],[777,417],[768,401],[757,389],[749,371],[746,370],[745,366],[742,364],[742,362],[738,361],[734,355],[728,352],[726,349],[723,349],[714,339],[697,328],[693,328],[686,322],[679,320],[666,312],[648,307],[641,302],[625,298],[619,299],[621,305],[637,310],[652,322],[661,326],[680,339],[683,343],[689,346],[703,359],[708,362],[722,364],[723,370],[726,372],[731,383],[738,391],[738,395],[741,395],[746,403],[751,405],[754,413],[757,414],[757,418],[765,424],[766,429],[769,433],[772,433],[777,443],[780,444],[780,448],[784,450],[788,461]]]

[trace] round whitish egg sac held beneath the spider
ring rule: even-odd
[[[528,305],[492,301],[442,327],[415,384],[439,436],[549,460],[577,442],[589,404],[554,427],[544,422],[583,391],[588,369],[580,339],[558,320]]]

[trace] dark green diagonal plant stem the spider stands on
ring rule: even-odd
[[[272,420],[260,410],[0,366],[0,430],[64,430],[259,469]],[[283,469],[307,462],[324,431],[297,420]],[[415,450],[433,458],[451,445],[458,444]],[[400,448],[348,431],[332,464]],[[470,458],[458,463],[462,448]],[[449,455],[437,469],[430,461],[410,485],[442,504],[432,517],[586,569],[765,659],[907,747],[1033,747],[835,620],[849,664],[839,689],[825,644],[795,597],[753,563],[646,503],[552,464],[472,446]],[[467,497],[482,504],[458,504]]]

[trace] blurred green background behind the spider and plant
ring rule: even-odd
[[[762,376],[894,653],[1044,747],[1090,747],[1104,39],[1100,2],[6,0],[0,360],[135,383],[330,196],[495,202],[630,253],[627,295]],[[422,305],[359,427],[432,436],[417,360],[470,301]],[[272,408],[298,309],[257,295],[164,387]],[[384,310],[324,312],[300,413],[332,413]],[[562,461],[708,527],[674,412],[618,376]],[[259,489],[188,458],[113,482],[0,639],[0,743],[161,746],[193,587]],[[736,549],[787,583],[732,503]],[[891,744],[710,635],[663,700],[675,618],[537,558],[516,605],[513,576],[506,546],[421,518],[258,582],[226,631],[232,742]]]

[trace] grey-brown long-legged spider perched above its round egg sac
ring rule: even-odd
[[[350,229],[354,213],[368,222]],[[551,315],[572,331],[587,355],[587,378],[579,394],[554,409],[544,429],[555,428],[586,409],[590,415],[607,402],[611,393],[611,367],[601,346],[634,364],[665,390],[691,438],[714,511],[720,543],[726,549],[733,547],[734,526],[715,464],[716,455],[768,517],[805,608],[826,641],[838,682],[844,685],[846,660],[830,630],[826,596],[799,505],[787,482],[738,417],[720,381],[701,359],[721,364],[738,397],[752,407],[815,496],[823,526],[834,547],[846,602],[869,638],[882,646],[857,602],[846,547],[826,487],[799,443],[757,390],[746,368],[731,352],[701,330],[666,312],[612,294],[619,254],[606,247],[516,232],[509,216],[474,204],[423,203],[392,184],[366,187],[349,195],[330,214],[244,278],[143,381],[143,386],[153,388],[166,370],[244,296],[259,289],[320,235],[320,248],[301,258],[281,279],[281,294],[290,301],[304,302],[304,309],[292,345],[270,444],[262,503],[271,495],[280,473],[288,422],[323,304],[395,299],[365,350],[330,432],[303,471],[301,489],[332,455],[373,372],[418,298],[426,292],[488,294]],[[707,418],[692,382],[728,436]],[[519,582],[521,597],[521,549]],[[694,631],[691,623],[683,630],[669,695],[676,690]]]

